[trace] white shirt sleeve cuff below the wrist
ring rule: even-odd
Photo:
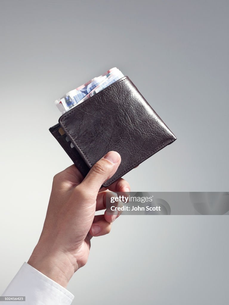
[[[73,294],[24,262],[2,296],[25,296],[24,301],[3,301],[6,305],[70,305]]]

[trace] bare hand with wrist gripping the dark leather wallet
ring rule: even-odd
[[[53,178],[43,230],[28,264],[63,287],[88,260],[90,239],[110,232],[118,215],[107,211],[106,189],[101,185],[111,178],[121,162],[118,152],[108,152],[83,179],[71,165]],[[120,178],[108,187],[112,192],[129,192],[128,182]]]

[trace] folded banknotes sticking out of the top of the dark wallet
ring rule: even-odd
[[[85,84],[77,87],[76,89],[67,92],[60,99],[57,99],[55,104],[63,114],[122,77],[124,77],[122,72],[118,68],[114,67],[104,74],[95,77]]]

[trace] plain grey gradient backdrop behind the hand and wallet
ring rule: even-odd
[[[228,1],[0,1],[1,293],[71,164],[53,101],[117,66],[177,141],[132,191],[228,191]],[[72,304],[227,304],[227,216],[123,216],[94,238]]]

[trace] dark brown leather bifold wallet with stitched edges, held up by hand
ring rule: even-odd
[[[120,154],[104,187],[176,140],[128,76],[68,110],[49,131],[84,177],[107,152]]]

